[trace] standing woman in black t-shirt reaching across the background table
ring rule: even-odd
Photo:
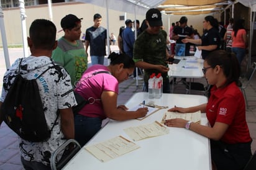
[[[199,45],[198,50],[202,50],[202,58],[213,50],[219,49],[221,36],[219,35],[219,24],[213,16],[204,17],[203,28],[206,30],[201,39],[188,39],[181,40],[183,43],[194,43]]]

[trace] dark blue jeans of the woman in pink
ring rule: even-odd
[[[75,116],[75,140],[83,147],[100,129],[99,117]]]

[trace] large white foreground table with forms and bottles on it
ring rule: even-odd
[[[149,102],[149,95],[146,92],[138,92],[130,98],[126,106],[132,108],[144,100],[146,103]],[[174,105],[189,107],[203,104],[207,102],[207,98],[186,94],[163,94],[161,99],[153,99],[152,101],[157,105],[168,105],[169,107],[173,107]],[[166,110],[158,110],[158,112],[155,112],[144,120],[127,120],[122,122],[110,120],[86,145],[94,145],[119,135],[131,140],[124,132],[124,128],[152,123],[155,120],[160,122]],[[208,120],[205,114],[202,114],[201,123],[207,124],[207,122]],[[64,169],[211,169],[211,152],[208,138],[185,128],[168,128],[170,128],[168,135],[134,141],[134,143],[140,146],[139,149],[107,161],[106,163],[102,163],[86,151],[85,148],[82,148]]]

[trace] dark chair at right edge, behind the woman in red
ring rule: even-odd
[[[248,69],[247,73],[245,73],[244,78],[239,79],[239,81],[240,81],[239,88],[241,89],[241,91],[244,94],[244,99],[245,99],[245,104],[247,106],[247,109],[249,109],[249,106],[248,106],[248,102],[247,102],[247,96],[246,96],[246,93],[245,93],[245,89],[249,86],[250,81],[254,77],[255,70],[256,70],[256,62],[254,62],[252,64],[252,66]]]

